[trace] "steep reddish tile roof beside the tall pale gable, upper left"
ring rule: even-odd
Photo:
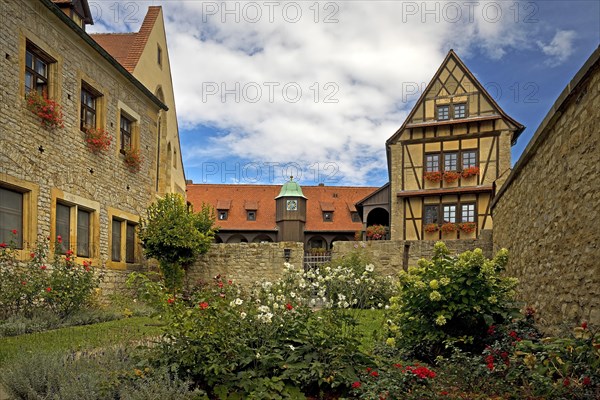
[[[127,71],[133,72],[144,51],[144,47],[146,47],[148,37],[150,36],[150,32],[152,32],[160,10],[160,6],[148,7],[148,12],[138,32],[95,33],[90,36],[125,67]]]

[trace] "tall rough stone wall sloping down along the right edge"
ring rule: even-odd
[[[495,200],[494,247],[556,333],[600,325],[600,51],[560,95]]]

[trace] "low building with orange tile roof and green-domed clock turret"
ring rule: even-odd
[[[302,242],[307,249],[330,249],[354,240],[363,229],[355,203],[377,188],[278,185],[189,184],[195,209],[215,209],[218,243]]]

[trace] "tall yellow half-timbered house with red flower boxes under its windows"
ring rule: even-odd
[[[374,195],[389,190],[391,239],[473,239],[492,229],[491,199],[523,129],[450,50],[386,142],[390,184]]]

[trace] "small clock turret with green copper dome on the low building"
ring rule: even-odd
[[[276,222],[279,242],[304,242],[304,224],[306,223],[306,197],[294,178],[283,184],[279,195],[275,197]]]

